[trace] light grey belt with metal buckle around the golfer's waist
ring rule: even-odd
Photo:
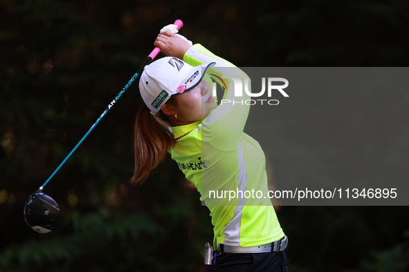
[[[227,253],[265,253],[265,252],[280,252],[287,246],[287,236],[284,235],[280,240],[261,246],[228,246],[227,244],[217,243],[217,251]]]

